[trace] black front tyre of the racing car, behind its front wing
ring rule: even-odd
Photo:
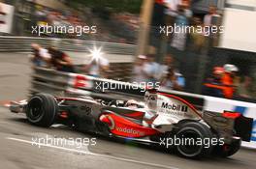
[[[50,127],[58,112],[56,99],[49,94],[37,94],[29,99],[26,106],[28,121],[36,126]]]

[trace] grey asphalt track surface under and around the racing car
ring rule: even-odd
[[[29,88],[31,70],[26,54],[0,53],[0,102],[23,99]],[[96,145],[36,145],[35,138],[95,139]],[[90,142],[91,143],[91,142]],[[241,149],[230,158],[184,159],[174,153],[131,142],[117,142],[69,127],[34,127],[23,114],[0,106],[0,165],[8,169],[42,168],[170,168],[170,169],[252,169],[256,151]],[[39,148],[40,147],[40,148]]]

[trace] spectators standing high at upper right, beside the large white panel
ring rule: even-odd
[[[163,23],[167,26],[175,25],[186,29],[187,26],[196,30],[202,27],[200,31],[178,31],[169,38],[170,45],[178,50],[193,50],[200,52],[203,47],[214,46],[217,44],[219,32],[212,33],[208,30],[213,26],[220,26],[221,15],[217,13],[215,6],[208,7],[208,14],[193,14],[191,0],[159,0],[156,1],[164,6]],[[188,29],[187,29],[188,30]]]

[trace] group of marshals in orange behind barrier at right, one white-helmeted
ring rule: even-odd
[[[208,77],[203,94],[226,99],[254,99],[256,86],[250,76],[240,79],[239,69],[235,65],[225,64],[214,67]]]

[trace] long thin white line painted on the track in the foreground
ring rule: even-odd
[[[39,144],[39,143],[35,143],[33,141],[23,140],[23,139],[14,138],[14,137],[6,137],[6,139],[14,140],[14,141],[18,141],[18,142],[23,142],[23,143],[28,143],[28,144],[31,144],[31,145],[37,144],[37,145],[43,146],[43,147],[60,149],[60,150],[68,151],[68,152],[79,153],[79,154],[82,154],[82,155],[97,155],[97,156],[101,156],[101,157],[108,157],[108,158],[112,158],[112,159],[115,159],[115,160],[121,160],[121,161],[126,161],[126,162],[133,162],[133,163],[138,163],[138,164],[143,164],[143,165],[148,165],[148,166],[153,166],[153,167],[160,167],[160,168],[167,168],[167,169],[178,169],[176,167],[167,166],[167,165],[161,165],[161,164],[157,164],[157,163],[144,162],[144,161],[139,161],[139,160],[134,160],[134,159],[129,159],[129,158],[123,158],[123,157],[115,157],[115,156],[112,156],[112,155],[94,154],[94,153],[91,153],[89,151],[80,151],[80,150],[76,150],[76,149],[69,149],[69,148],[64,148],[64,147],[58,147],[58,146],[49,145],[49,144],[42,144],[42,143]]]

